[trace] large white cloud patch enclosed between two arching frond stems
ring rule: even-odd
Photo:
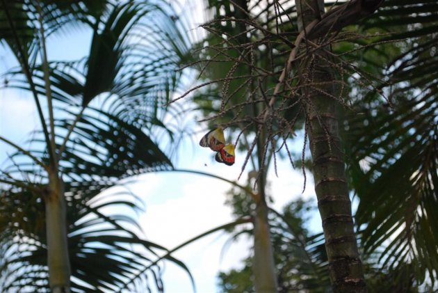
[[[146,203],[156,201],[155,196],[161,197],[162,203],[148,205],[140,219],[149,239],[168,247],[176,246],[232,219],[230,208],[223,205],[228,184],[193,175],[179,175],[183,180],[177,182],[168,175],[161,176],[164,178],[161,189],[153,196],[147,196]],[[166,177],[170,178],[166,180]],[[186,183],[181,183],[183,181]],[[175,185],[172,186],[175,183],[179,185],[176,193]],[[166,187],[170,187],[169,190]]]

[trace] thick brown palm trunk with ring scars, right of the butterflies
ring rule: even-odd
[[[323,13],[323,0],[298,0],[298,23],[303,28]],[[334,100],[334,72],[327,56],[316,56],[300,66],[306,86],[305,104],[309,125],[310,151],[313,161],[318,209],[323,221],[325,248],[329,260],[334,293],[366,292],[353,228],[351,202],[345,174],[345,161],[339,136],[338,117],[341,108]]]

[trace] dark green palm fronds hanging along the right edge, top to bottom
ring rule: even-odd
[[[364,22],[363,29],[384,33],[364,63],[377,61],[376,88],[386,100],[373,93],[357,99],[346,123],[364,253],[407,288],[433,287],[438,272],[436,6],[385,1]]]

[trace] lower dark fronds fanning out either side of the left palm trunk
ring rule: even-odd
[[[118,290],[127,280],[140,275],[154,284],[156,290],[163,291],[161,283],[161,263],[163,260],[174,262],[187,271],[188,268],[172,255],[156,261],[168,250],[140,237],[140,230],[135,229],[137,220],[127,214],[118,214],[121,207],[135,211],[139,199],[131,193],[108,193],[97,196],[112,183],[75,182],[66,184],[68,244],[72,264],[72,290]],[[41,207],[24,200],[26,192],[5,191],[4,196],[22,207]],[[29,196],[28,196],[29,197]],[[2,197],[6,200],[6,197]],[[90,200],[90,198],[92,200]],[[18,200],[19,199],[19,200]],[[13,213],[4,210],[10,205],[1,205],[2,219]],[[38,214],[35,214],[38,215]],[[42,221],[40,225],[38,219]],[[36,222],[35,222],[36,221]],[[39,228],[38,228],[39,227]],[[19,290],[24,283],[34,292],[48,290],[47,282],[47,248],[44,245],[44,216],[30,219],[26,216],[8,219],[3,227],[1,253],[2,292]],[[38,228],[38,230],[35,230]],[[135,231],[138,232],[135,232]],[[11,235],[19,237],[20,242],[8,242]],[[13,239],[13,238],[12,238]],[[87,289],[88,288],[88,289]]]

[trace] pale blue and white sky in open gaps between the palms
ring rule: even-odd
[[[90,34],[87,31],[70,31],[49,40],[49,60],[62,60],[65,56],[71,59],[86,56],[89,46]],[[14,64],[10,54],[5,52],[4,47],[0,47],[0,74]],[[38,127],[38,116],[29,94],[21,90],[0,89],[0,136],[24,145],[29,133]],[[202,135],[199,132],[193,138],[195,144],[190,138],[181,143],[175,166],[237,180],[245,154],[236,154],[234,166],[218,164],[211,150],[197,145]],[[296,138],[295,145],[300,148],[302,137]],[[0,143],[0,166],[6,160],[6,153],[10,152],[11,148]],[[289,160],[279,161],[277,168],[278,177],[273,168],[268,173],[268,193],[275,200],[272,206],[274,209],[281,210],[286,203],[300,196],[314,198],[311,176],[307,176],[307,188],[302,193],[302,172],[292,170]],[[248,171],[250,169],[243,173],[240,183],[245,183]],[[145,213],[139,218],[145,237],[169,249],[206,230],[233,221],[232,209],[224,205],[230,185],[211,177],[188,173],[151,173],[136,177],[136,182],[130,184],[129,188],[145,201]],[[318,214],[314,214],[311,220],[311,229],[321,230]],[[216,232],[175,253],[175,257],[182,260],[193,274],[197,292],[217,292],[218,271],[239,268],[241,260],[250,255],[252,239],[242,237],[226,246],[228,240],[229,235],[225,232]],[[186,272],[175,264],[165,264],[163,282],[165,292],[192,292]]]

